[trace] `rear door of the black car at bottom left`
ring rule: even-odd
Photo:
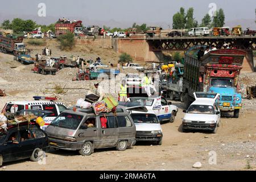
[[[19,155],[22,158],[29,158],[32,152],[36,148],[36,140],[34,135],[29,129],[22,129],[19,131],[20,134],[20,151]]]

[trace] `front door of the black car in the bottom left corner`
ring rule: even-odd
[[[4,162],[10,162],[14,160],[18,160],[19,156],[19,132],[17,130],[11,131],[9,135],[7,135],[6,141],[3,144],[2,156]]]

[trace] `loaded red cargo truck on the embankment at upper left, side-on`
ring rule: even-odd
[[[77,21],[74,23],[56,23],[55,24],[55,35],[60,36],[71,32],[75,35],[80,35],[82,33],[82,21]]]

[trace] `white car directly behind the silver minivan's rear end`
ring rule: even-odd
[[[136,140],[150,141],[162,144],[163,130],[154,111],[146,113],[140,111],[131,111],[131,118],[136,126]]]

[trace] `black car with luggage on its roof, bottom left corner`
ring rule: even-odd
[[[0,167],[3,163],[30,158],[36,162],[46,151],[48,138],[36,125],[28,124],[0,130]]]

